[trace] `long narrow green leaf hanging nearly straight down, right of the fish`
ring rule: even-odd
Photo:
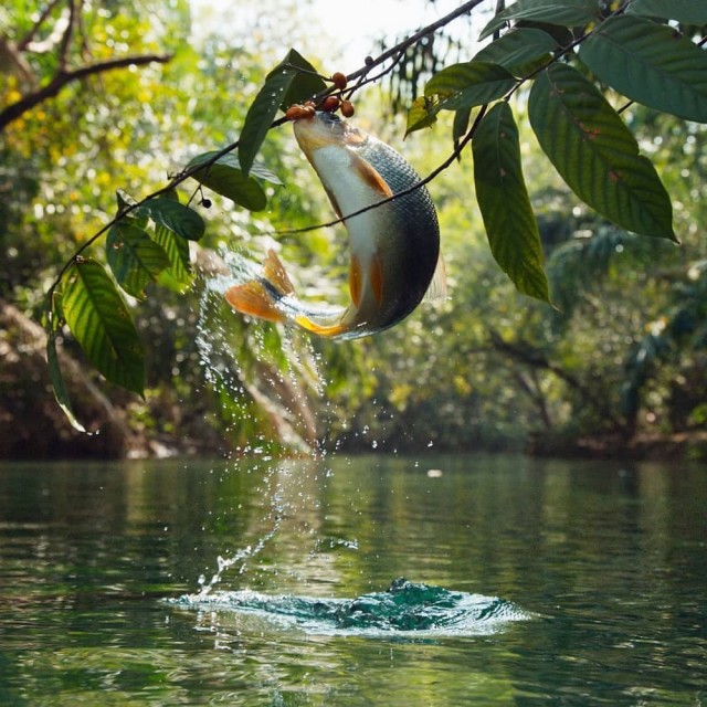
[[[474,183],[492,253],[519,292],[550,300],[540,232],[520,167],[520,141],[510,106],[495,105],[474,139]]]

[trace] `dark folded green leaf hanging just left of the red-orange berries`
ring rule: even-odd
[[[244,175],[250,172],[277,110],[309,98],[324,88],[326,84],[316,75],[314,66],[291,49],[287,56],[267,74],[245,115],[239,140],[239,162]]]

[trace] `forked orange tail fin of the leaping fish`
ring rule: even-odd
[[[295,288],[275,251],[268,251],[263,263],[263,278],[233,285],[225,291],[225,300],[241,314],[268,321],[286,321],[276,304],[281,297],[293,295]]]

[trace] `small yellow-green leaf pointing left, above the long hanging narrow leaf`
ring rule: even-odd
[[[507,94],[516,80],[503,66],[487,62],[452,64],[436,73],[424,87],[428,98],[440,97],[437,109],[473,108]]]

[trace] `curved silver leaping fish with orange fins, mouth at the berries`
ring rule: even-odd
[[[440,226],[424,187],[391,147],[330,113],[318,112],[294,124],[295,137],[314,167],[339,218],[345,217],[350,266],[347,307],[302,302],[277,255],[271,251],[263,274],[234,285],[229,304],[243,314],[288,321],[328,338],[352,339],[404,319],[425,293],[443,288]]]

